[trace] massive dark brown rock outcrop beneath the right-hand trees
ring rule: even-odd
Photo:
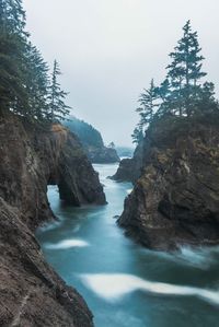
[[[143,143],[142,171],[118,220],[149,248],[219,243],[219,127],[160,121]]]

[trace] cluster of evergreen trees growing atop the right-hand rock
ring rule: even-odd
[[[219,115],[218,101],[215,98],[215,85],[201,83],[206,72],[201,71],[201,48],[197,32],[193,32],[188,21],[183,27],[183,37],[174,51],[170,54],[172,62],[166,67],[165,80],[155,86],[153,80],[148,90],[143,90],[138,102],[140,121],[134,130],[134,143],[139,143],[149,126],[163,116],[174,120],[193,120],[204,115]]]

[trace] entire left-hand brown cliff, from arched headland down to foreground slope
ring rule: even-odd
[[[76,290],[45,262],[35,227],[53,217],[47,185],[68,203],[105,203],[103,188],[78,139],[22,118],[0,119],[0,326],[93,326]]]

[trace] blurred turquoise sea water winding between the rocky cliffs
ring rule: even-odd
[[[47,260],[84,296],[96,327],[218,327],[219,248],[165,254],[125,237],[115,215],[131,184],[107,179],[116,168],[95,165],[104,207],[66,207],[49,187],[59,221],[37,231]]]

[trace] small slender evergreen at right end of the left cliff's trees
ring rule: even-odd
[[[62,120],[70,113],[70,107],[65,104],[65,98],[68,93],[60,89],[58,77],[61,74],[57,60],[54,61],[54,70],[51,75],[51,84],[49,86],[49,108],[50,119],[53,121]]]

